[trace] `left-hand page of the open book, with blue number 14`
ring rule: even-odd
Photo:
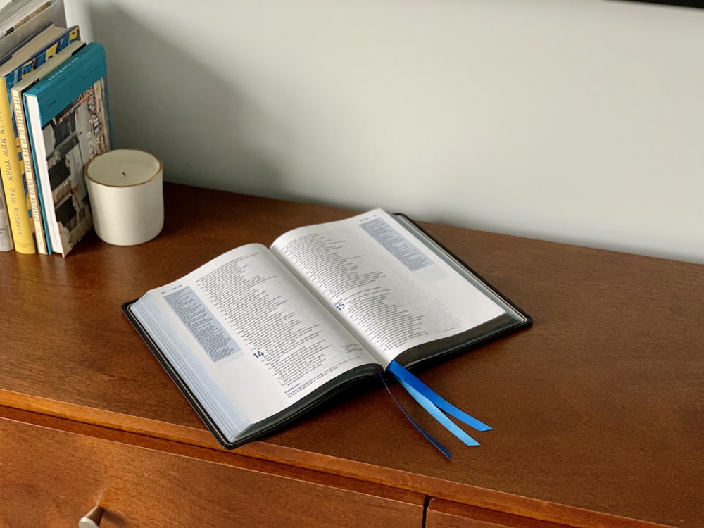
[[[146,296],[145,311],[157,309],[172,326],[164,353],[226,436],[374,362],[260,244],[233,249]],[[226,420],[234,423],[220,423]]]

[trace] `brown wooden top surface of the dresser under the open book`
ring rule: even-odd
[[[234,246],[355,212],[175,184],[165,207],[163,232],[139,246],[91,233],[67,258],[0,253],[0,405],[57,429],[123,432],[126,444],[155,439],[570,526],[704,525],[704,266],[421,222],[534,318],[419,373],[494,427],[476,435],[482,446],[454,441],[392,387],[451,448],[445,460],[370,386],[229,452],[121,303]]]

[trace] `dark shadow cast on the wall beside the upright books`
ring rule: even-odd
[[[114,6],[94,3],[88,15],[106,48],[115,148],[158,156],[170,182],[250,194],[279,187],[282,176],[246,133],[274,123],[189,56],[197,37],[184,34],[179,48]]]

